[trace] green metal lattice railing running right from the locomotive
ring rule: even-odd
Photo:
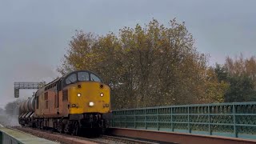
[[[256,138],[256,102],[114,110],[111,126]]]

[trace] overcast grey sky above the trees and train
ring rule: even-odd
[[[14,100],[14,82],[55,78],[74,30],[95,34],[152,18],[186,22],[210,64],[227,55],[256,55],[254,0],[0,0],[0,106]],[[22,91],[23,98],[31,91]]]

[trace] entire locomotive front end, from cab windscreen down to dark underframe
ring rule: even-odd
[[[74,71],[62,79],[62,85],[63,112],[68,114],[70,123],[66,131],[106,128],[103,114],[110,113],[110,87],[97,74]]]

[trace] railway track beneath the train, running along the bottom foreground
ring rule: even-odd
[[[33,134],[35,136],[41,137],[41,138],[46,138],[49,140],[52,140],[54,142],[59,142],[63,144],[82,144],[82,143],[102,143],[102,144],[125,144],[125,143],[136,143],[136,144],[156,144],[159,142],[149,142],[145,140],[140,140],[140,139],[134,139],[134,138],[123,138],[123,137],[117,137],[117,136],[110,136],[110,135],[101,135],[98,138],[83,138],[83,137],[78,137],[74,135],[69,135],[69,134],[60,134],[57,132],[52,132],[49,130],[38,130],[38,129],[33,129],[33,128],[28,128],[28,127],[21,127],[21,126],[14,126],[11,127],[11,129],[14,130],[20,130],[29,134]]]

